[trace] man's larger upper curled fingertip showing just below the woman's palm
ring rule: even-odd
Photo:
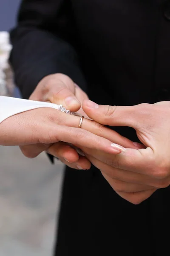
[[[62,141],[54,143],[46,151],[54,157],[64,159],[68,163],[76,163],[79,160],[79,154],[77,151]]]

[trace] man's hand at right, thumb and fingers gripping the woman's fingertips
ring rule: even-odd
[[[145,146],[138,150],[127,148],[117,156],[86,151],[113,189],[119,187],[116,192],[122,198],[139,204],[156,189],[170,185],[170,102],[116,107],[85,101],[82,108],[96,122],[134,128]],[[148,187],[141,191],[141,185]]]

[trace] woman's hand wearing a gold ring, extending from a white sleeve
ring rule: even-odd
[[[23,154],[27,157],[35,157],[40,153],[39,148],[48,151],[52,148],[55,156],[57,144],[54,144],[54,148],[52,144],[60,141],[79,148],[86,147],[111,154],[119,154],[122,151],[121,147],[112,143],[113,141],[125,142],[128,146],[132,144],[116,132],[89,119],[83,120],[84,129],[80,129],[79,120],[79,116],[69,115],[53,108],[38,108],[19,113],[0,124],[0,145],[20,145]],[[61,148],[58,150],[60,152]],[[71,151],[69,152],[72,154]],[[89,169],[89,161],[82,159],[81,169]],[[79,166],[75,168],[80,169]]]

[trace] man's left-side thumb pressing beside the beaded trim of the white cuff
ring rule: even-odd
[[[48,93],[44,94],[44,101],[61,104],[70,111],[78,111],[81,103],[75,96],[75,84],[65,75],[58,77],[57,80],[49,81]]]

